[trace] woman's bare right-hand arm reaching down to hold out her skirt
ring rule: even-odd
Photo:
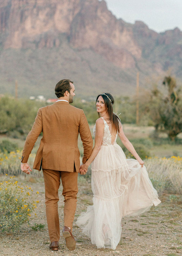
[[[141,164],[141,166],[143,167],[143,160],[140,158],[140,156],[137,154],[134,146],[131,144],[131,142],[128,140],[128,138],[125,136],[124,131],[123,131],[123,127],[121,125],[120,127],[120,132],[118,133],[118,136],[120,137],[123,145],[129,150],[129,152],[135,156],[136,160]]]

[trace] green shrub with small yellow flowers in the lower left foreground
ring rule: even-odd
[[[14,177],[10,177],[0,182],[0,231],[2,232],[17,231],[21,224],[29,222],[30,213],[39,202],[33,200],[31,188],[18,184],[13,179]]]

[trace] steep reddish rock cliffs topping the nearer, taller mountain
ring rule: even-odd
[[[79,49],[92,48],[121,68],[135,66],[141,48],[132,27],[117,20],[98,0],[5,0],[0,8],[3,47],[59,47],[59,34]]]

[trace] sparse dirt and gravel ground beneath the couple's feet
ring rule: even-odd
[[[21,180],[22,181],[22,180]],[[31,182],[30,182],[31,181]],[[33,183],[32,183],[33,181]],[[89,256],[176,256],[182,255],[182,199],[170,200],[169,195],[160,197],[162,203],[142,216],[125,217],[122,221],[121,240],[116,249],[97,249],[90,239],[82,235],[81,230],[75,225],[73,233],[76,238],[76,249],[69,251],[65,239],[61,236],[57,252],[48,248],[50,244],[47,225],[43,230],[34,231],[31,226],[46,224],[44,206],[43,179],[26,178],[22,181],[30,186],[33,191],[39,191],[39,205],[36,210],[38,218],[31,220],[30,226],[24,224],[18,233],[0,233],[0,255],[13,256],[48,256],[48,255],[89,255]],[[60,229],[63,227],[63,198],[60,188]],[[92,205],[92,191],[90,184],[83,177],[79,177],[78,207],[75,220],[86,206]],[[33,215],[33,214],[32,214]]]

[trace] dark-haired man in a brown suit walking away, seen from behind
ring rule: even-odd
[[[32,148],[43,132],[33,168],[43,171],[45,183],[45,205],[50,249],[57,251],[60,238],[58,216],[58,189],[62,182],[64,196],[64,228],[62,234],[66,239],[69,250],[75,249],[72,235],[72,224],[76,210],[76,196],[78,193],[77,178],[80,170],[80,152],[78,149],[78,135],[82,139],[84,155],[83,163],[89,158],[93,140],[87,119],[82,109],[71,106],[73,102],[74,85],[70,80],[61,80],[56,84],[55,94],[58,101],[38,110],[37,117],[25,141],[21,170],[30,174],[28,158]]]

